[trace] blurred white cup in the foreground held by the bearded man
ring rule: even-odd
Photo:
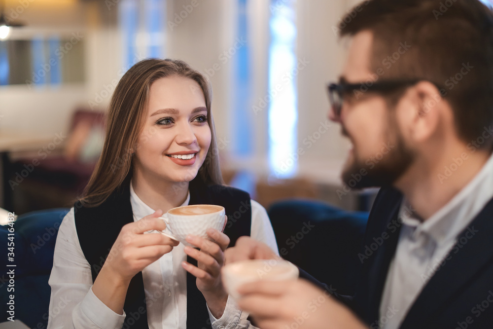
[[[283,259],[249,259],[227,264],[222,269],[226,292],[238,299],[238,287],[259,280],[282,281],[297,279],[298,267]]]

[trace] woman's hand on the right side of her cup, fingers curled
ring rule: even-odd
[[[207,231],[210,240],[195,235],[187,236],[186,240],[200,248],[185,247],[185,253],[197,259],[194,266],[186,261],[182,263],[185,270],[197,277],[197,288],[204,295],[212,315],[219,319],[226,307],[228,293],[221,281],[221,267],[224,265],[224,251],[229,245],[229,237],[215,229]]]

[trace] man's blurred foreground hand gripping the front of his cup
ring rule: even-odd
[[[367,329],[346,306],[304,280],[257,281],[238,292],[238,305],[262,329]]]

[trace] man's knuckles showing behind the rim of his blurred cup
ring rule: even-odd
[[[254,240],[249,236],[242,236],[236,241],[234,247],[224,252],[226,264],[246,259],[279,259],[265,243]]]

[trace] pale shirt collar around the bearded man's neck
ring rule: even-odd
[[[414,228],[414,236],[424,233],[437,244],[442,244],[456,239],[492,197],[493,155],[480,172],[429,219],[423,221],[418,218],[406,198],[399,209],[399,218],[404,225]]]

